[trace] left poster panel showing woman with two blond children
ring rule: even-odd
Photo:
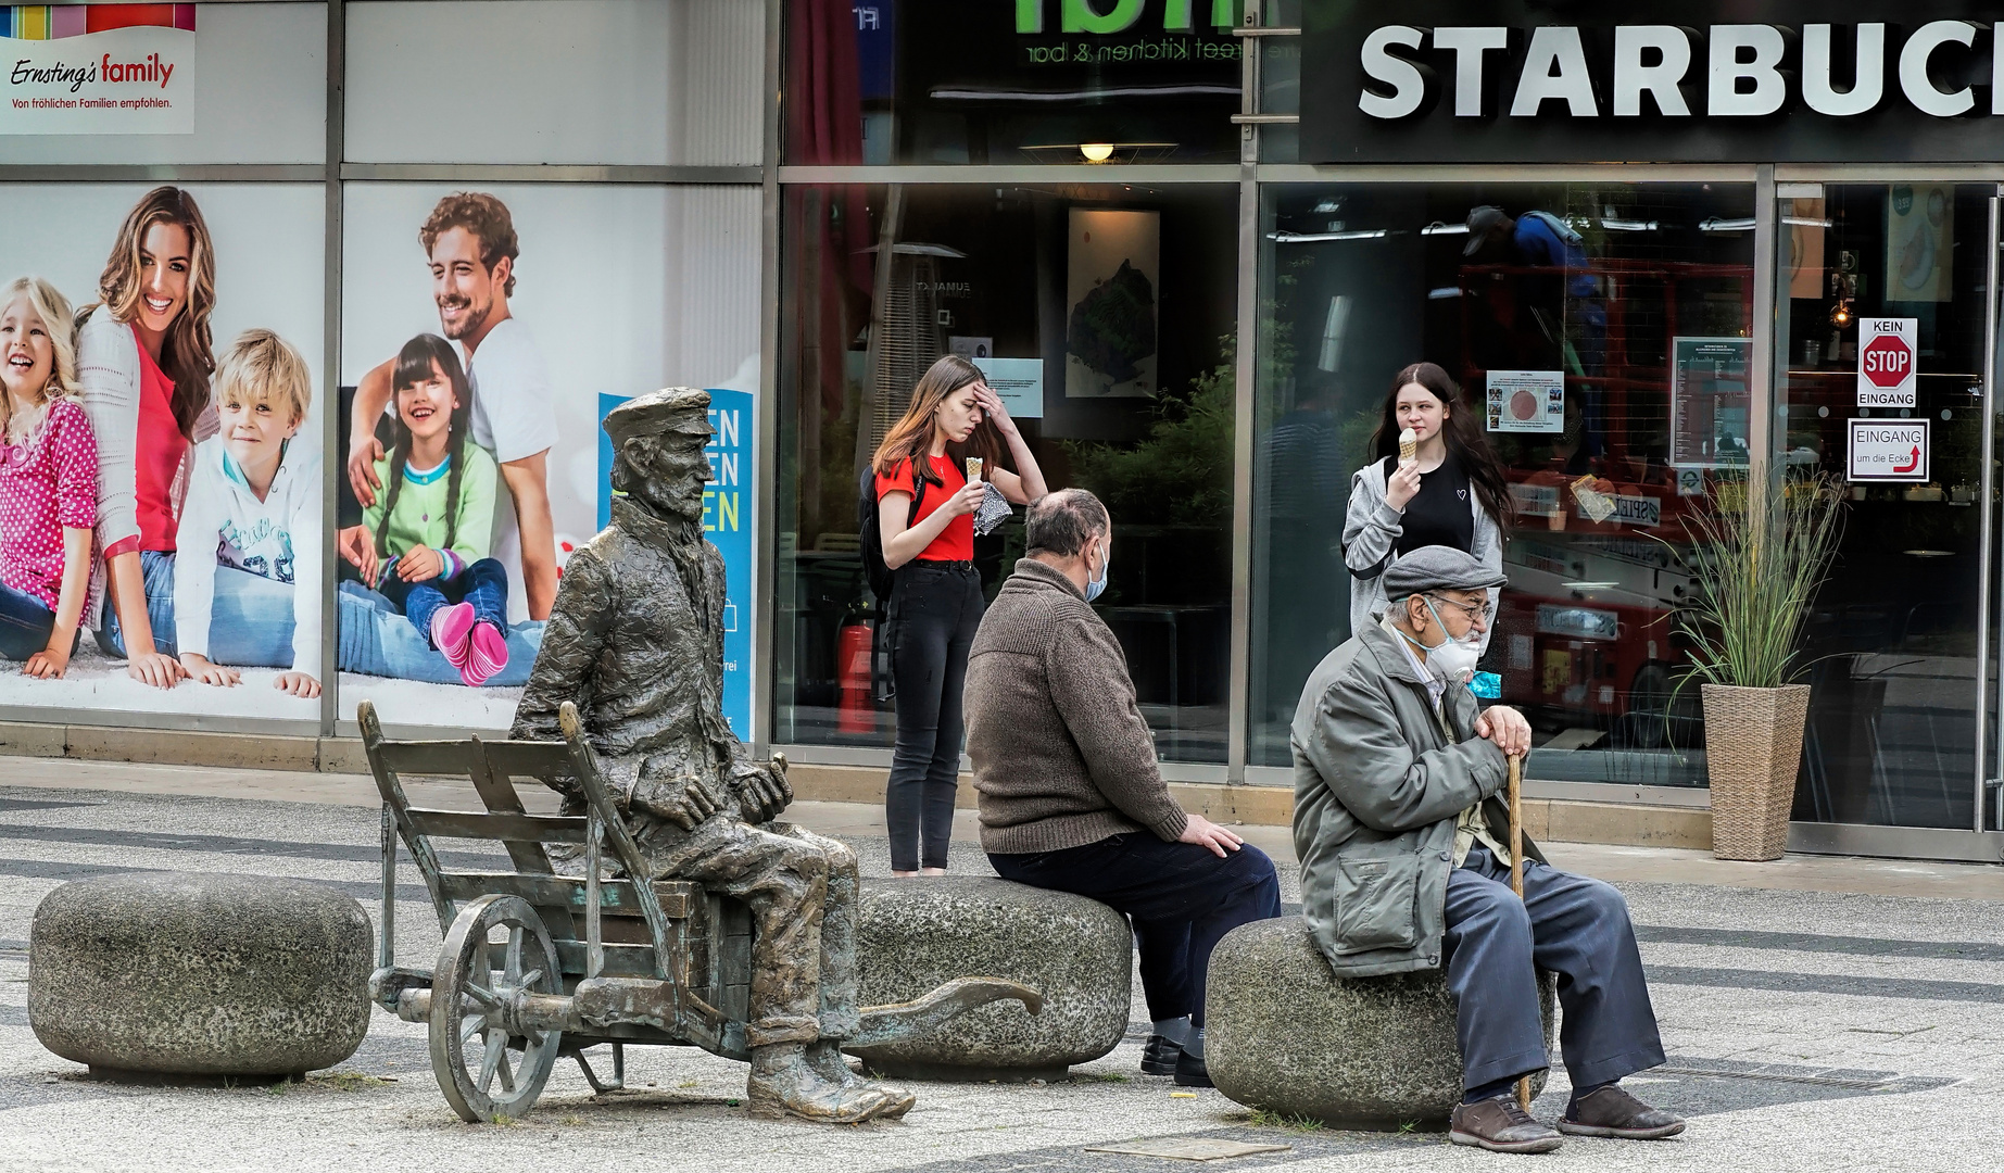
[[[8,188],[0,706],[319,718],[323,209]]]

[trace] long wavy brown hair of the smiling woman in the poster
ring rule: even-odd
[[[174,425],[180,427],[180,435],[194,439],[194,421],[208,407],[208,375],[216,369],[214,343],[208,335],[208,313],[216,307],[216,249],[192,194],[178,186],[156,186],[140,197],[126,213],[110,261],[98,277],[98,301],[76,315],[76,325],[84,325],[98,305],[120,323],[138,317],[140,247],[154,225],[180,225],[188,233],[188,303],[166,327],[160,371],[174,381]]]

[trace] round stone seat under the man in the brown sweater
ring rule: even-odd
[[[1060,1079],[1120,1045],[1132,950],[1126,916],[1084,896],[988,876],[864,880],[862,1005],[992,976],[1038,991],[1044,1009],[1030,1015],[1020,1003],[992,1003],[932,1037],[854,1055],[898,1079]]]

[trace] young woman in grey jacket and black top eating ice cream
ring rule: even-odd
[[[1371,437],[1371,463],[1351,477],[1351,509],[1343,521],[1351,632],[1379,620],[1385,571],[1421,545],[1453,545],[1503,573],[1503,541],[1515,519],[1503,465],[1455,381],[1435,363],[1399,371]],[[1495,600],[1491,590],[1491,608]]]

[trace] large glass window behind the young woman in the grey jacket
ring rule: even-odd
[[[1509,585],[1483,670],[1531,718],[1529,774],[1703,784],[1677,690],[1679,515],[1743,475],[1745,184],[1271,186],[1261,241],[1250,764],[1289,764],[1315,664],[1351,636],[1343,523],[1393,375],[1433,361],[1505,469]],[[1563,255],[1469,213],[1537,221]]]

